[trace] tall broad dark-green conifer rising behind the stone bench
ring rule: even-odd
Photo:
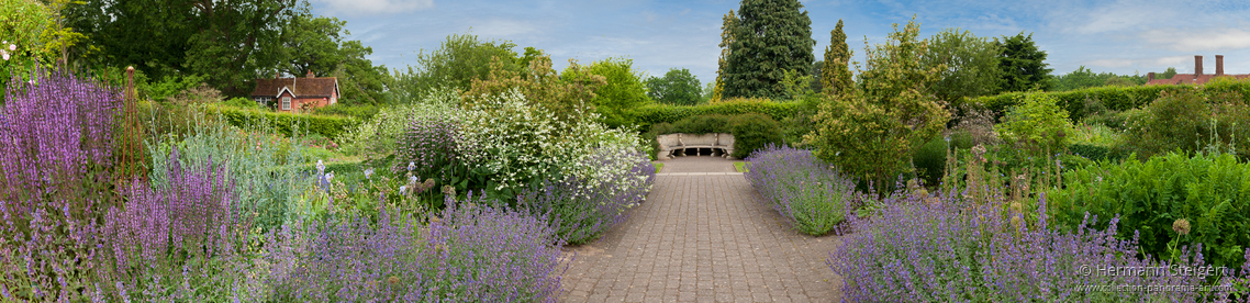
[[[725,57],[720,97],[780,99],[785,71],[808,70],[815,57],[811,19],[798,0],[742,0]]]

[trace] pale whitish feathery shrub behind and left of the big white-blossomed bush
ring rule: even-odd
[[[348,155],[385,156],[394,152],[396,140],[414,117],[452,118],[460,96],[451,89],[431,90],[410,105],[385,107],[374,117],[341,135],[341,148]]]

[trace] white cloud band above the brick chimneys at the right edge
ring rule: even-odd
[[[1250,31],[1241,29],[1155,29],[1141,32],[1146,42],[1175,51],[1212,51],[1250,47]]]

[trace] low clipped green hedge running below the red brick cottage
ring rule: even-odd
[[[226,122],[240,128],[266,127],[276,133],[290,136],[294,126],[300,125],[300,131],[319,133],[324,137],[338,140],[340,133],[356,127],[360,121],[351,117],[326,116],[326,115],[301,115],[288,112],[271,112],[264,110],[244,110],[228,106],[215,106],[210,108],[221,115]],[[265,125],[261,125],[265,123]]]

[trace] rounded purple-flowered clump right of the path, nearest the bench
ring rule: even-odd
[[[746,180],[799,232],[829,233],[859,203],[855,183],[811,151],[769,145],[746,161]]]

